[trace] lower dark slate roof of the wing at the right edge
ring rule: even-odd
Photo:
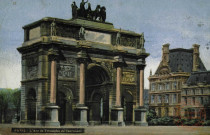
[[[198,83],[210,84],[210,71],[192,72],[187,84],[196,85]]]

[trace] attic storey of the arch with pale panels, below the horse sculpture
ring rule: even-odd
[[[144,35],[115,29],[112,23],[86,19],[64,20],[46,17],[23,27],[24,42],[43,36],[57,36],[102,44],[144,48]]]

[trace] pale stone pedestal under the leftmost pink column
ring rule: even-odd
[[[60,126],[60,122],[58,121],[58,109],[59,107],[56,105],[47,106],[46,109],[49,112],[50,119],[45,121],[45,126]]]

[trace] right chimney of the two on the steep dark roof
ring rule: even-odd
[[[200,45],[194,44],[193,45],[193,71],[198,71],[199,67],[199,47]]]

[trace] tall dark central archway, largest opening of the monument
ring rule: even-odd
[[[90,124],[109,122],[109,81],[107,70],[99,65],[89,66],[86,76],[86,103]]]

